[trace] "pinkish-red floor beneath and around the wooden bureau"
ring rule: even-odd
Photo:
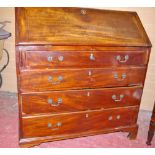
[[[129,140],[127,133],[110,133],[62,141],[43,143],[36,148],[155,148],[146,145],[151,113],[140,111],[139,131],[136,140]],[[18,146],[18,107],[15,94],[0,92],[0,148],[17,148]]]

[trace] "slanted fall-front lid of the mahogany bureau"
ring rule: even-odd
[[[16,8],[16,45],[151,46],[135,12]]]

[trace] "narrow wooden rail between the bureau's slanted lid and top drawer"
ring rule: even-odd
[[[17,28],[17,26],[16,26]],[[148,51],[148,47],[134,47],[134,46],[94,46],[94,45],[78,45],[78,46],[72,46],[72,45],[52,45],[52,44],[45,44],[45,45],[19,45],[17,44],[16,47],[18,47],[18,50],[22,52],[22,54],[25,51],[121,51],[121,52],[137,52],[137,51],[145,51],[146,53],[150,53]],[[25,53],[24,53],[25,54]],[[23,59],[22,59],[23,61]]]

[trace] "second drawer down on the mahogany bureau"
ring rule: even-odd
[[[20,89],[33,92],[142,85],[145,72],[145,67],[23,71]]]

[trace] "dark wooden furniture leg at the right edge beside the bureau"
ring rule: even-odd
[[[149,131],[148,131],[148,137],[147,137],[147,142],[146,142],[147,145],[151,145],[151,141],[153,139],[154,133],[155,133],[155,103],[154,103],[154,108],[152,111]]]

